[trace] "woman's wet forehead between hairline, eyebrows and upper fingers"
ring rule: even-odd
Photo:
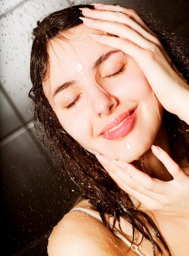
[[[54,88],[65,81],[77,80],[83,72],[91,70],[99,56],[113,49],[94,42],[88,35],[90,33],[102,34],[102,31],[79,25],[50,41],[50,70],[48,79],[43,83],[46,95],[51,95]]]

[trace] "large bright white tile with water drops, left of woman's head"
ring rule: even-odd
[[[7,10],[10,4],[8,5],[7,1],[3,2],[7,4]],[[29,35],[40,17],[67,7],[68,4],[67,0],[24,1],[0,20],[0,83],[26,121],[31,119],[27,113],[27,95],[31,88]]]

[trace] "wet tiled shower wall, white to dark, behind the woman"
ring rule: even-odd
[[[111,2],[151,12],[162,27],[189,43],[188,1]],[[68,0],[0,1],[2,255],[46,255],[52,227],[77,198],[77,189],[61,173],[57,157],[37,140],[27,99],[32,28],[44,14],[69,4]]]

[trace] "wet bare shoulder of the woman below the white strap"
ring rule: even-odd
[[[54,227],[48,240],[48,256],[122,256],[128,247],[96,218],[70,211]]]

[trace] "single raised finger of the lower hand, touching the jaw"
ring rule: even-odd
[[[152,153],[165,165],[174,180],[180,181],[186,174],[180,166],[160,147],[152,145]]]

